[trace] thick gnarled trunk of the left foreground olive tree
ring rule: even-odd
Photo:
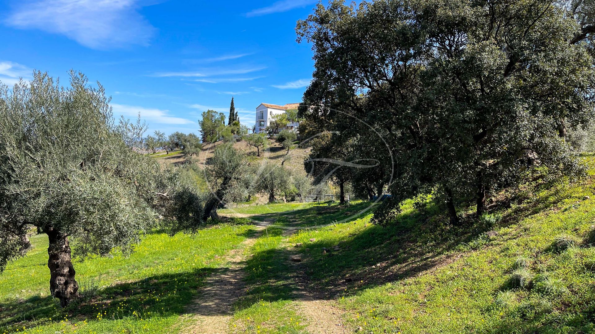
[[[66,307],[78,297],[79,292],[79,283],[74,279],[75,272],[68,236],[51,227],[44,228],[44,232],[49,240],[49,291],[52,297],[60,300],[62,307]]]

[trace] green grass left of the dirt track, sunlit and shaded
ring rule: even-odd
[[[0,275],[0,333],[171,333],[203,279],[245,240],[250,226],[220,225],[195,237],[148,234],[130,257],[77,261],[82,300],[62,310],[49,295],[47,240]]]

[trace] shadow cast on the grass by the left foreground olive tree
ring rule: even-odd
[[[184,314],[186,305],[195,298],[206,276],[214,275],[219,270],[223,269],[205,267],[118,283],[107,288],[82,285],[79,291],[81,298],[64,309],[51,296],[36,295],[5,301],[0,303],[0,332],[60,322],[65,317],[71,322],[90,322],[100,319],[153,319]]]

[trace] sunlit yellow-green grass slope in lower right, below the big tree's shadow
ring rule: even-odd
[[[461,248],[467,250],[461,259],[421,276],[365,286],[341,300],[346,320],[374,333],[593,332],[595,275],[585,264],[595,259],[595,249],[559,250],[552,242],[558,235],[588,236],[595,201],[585,196],[594,190],[590,183],[562,183],[533,193],[506,212],[508,224],[497,228],[496,237],[478,249]],[[540,210],[533,214],[536,206]],[[415,246],[421,236],[410,236]],[[519,256],[531,259],[527,270],[549,273],[554,281],[513,288],[509,274]],[[503,291],[516,298],[503,302]]]

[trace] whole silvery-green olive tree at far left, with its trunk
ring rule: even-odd
[[[182,216],[170,198],[184,187],[130,149],[108,103],[80,73],[67,88],[40,72],[0,87],[0,270],[23,256],[20,238],[36,226],[48,235],[50,291],[62,306],[78,291],[70,242],[81,257],[127,254],[158,212]]]

